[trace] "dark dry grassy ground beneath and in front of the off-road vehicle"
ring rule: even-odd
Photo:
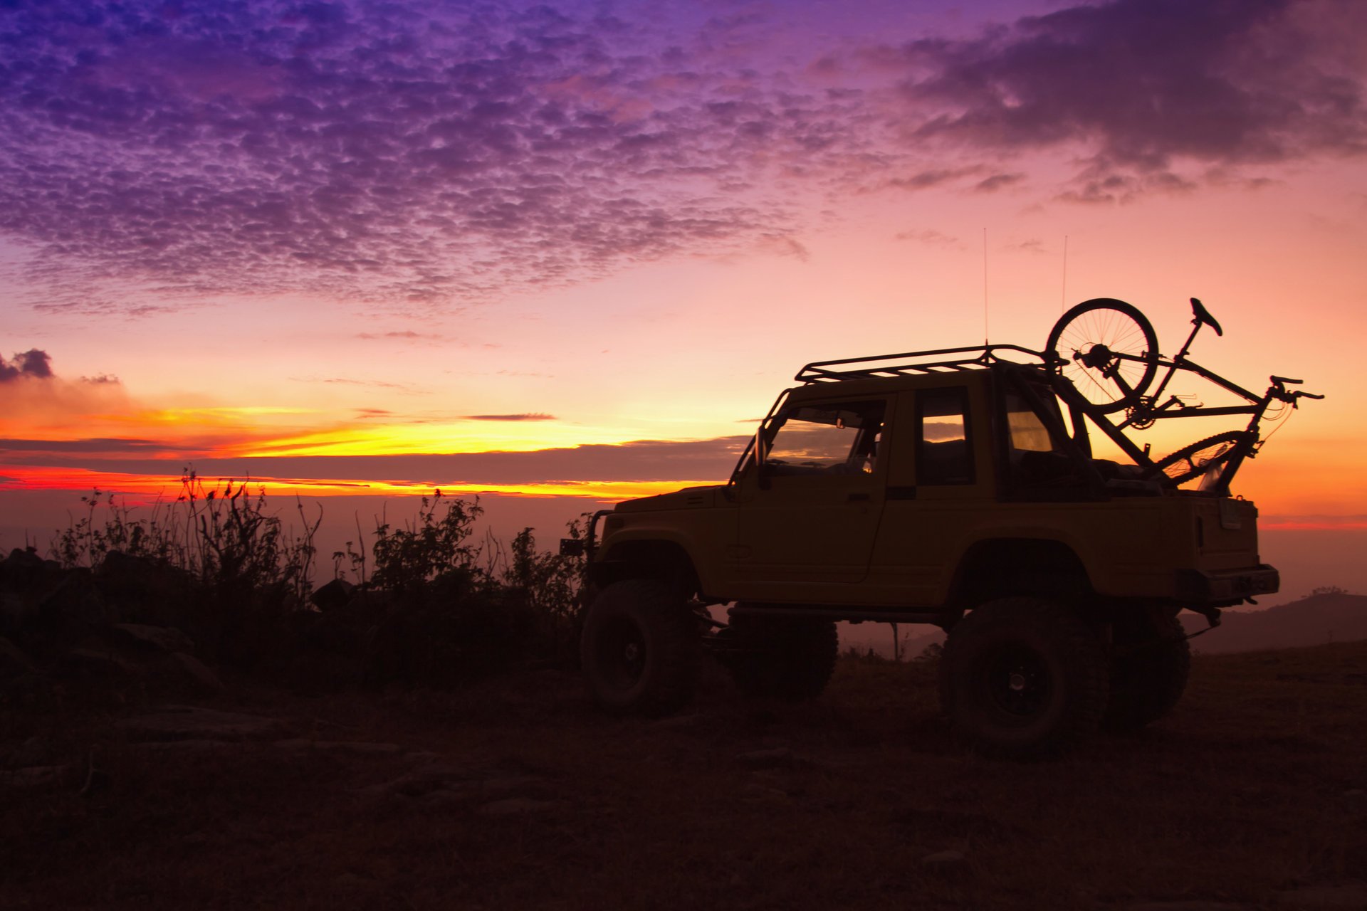
[[[696,714],[653,724],[555,672],[457,694],[241,684],[219,707],[436,755],[167,754],[53,723],[53,758],[93,746],[103,774],[85,795],[0,789],[0,906],[1270,907],[1367,870],[1364,671],[1367,643],[1200,657],[1170,720],[1028,765],[953,743],[925,665],[845,660],[808,706],[742,701],[718,672]],[[738,759],[774,747],[796,761]],[[362,791],[433,762],[485,796]],[[500,794],[541,803],[480,810]],[[946,850],[965,860],[921,862]]]

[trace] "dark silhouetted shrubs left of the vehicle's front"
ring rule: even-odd
[[[191,470],[180,496],[146,516],[98,490],[82,503],[53,555],[96,567],[120,619],[179,627],[217,660],[308,668],[332,683],[458,683],[577,653],[582,559],[539,552],[532,529],[510,553],[492,538],[472,544],[477,499],[436,490],[413,522],[377,520],[369,553],[364,535],[347,542],[332,555],[334,575],[350,563],[360,585],[334,585],[327,612],[309,604],[321,511],[309,522],[298,503],[295,534],[264,490],[205,488]],[[582,537],[582,518],[569,529]]]

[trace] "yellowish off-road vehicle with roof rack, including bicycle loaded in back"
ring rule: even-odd
[[[1274,377],[1258,396],[1191,362],[1196,332],[1219,331],[1192,305],[1195,329],[1172,359],[1137,310],[1103,298],[1065,314],[1044,351],[808,363],[726,483],[595,516],[581,639],[595,699],[674,710],[704,649],[745,692],[811,698],[848,620],[947,631],[940,701],[984,751],[1035,754],[1162,717],[1188,675],[1178,612],[1214,624],[1277,591],[1258,511],[1229,481],[1269,406],[1289,411],[1305,395]],[[1178,372],[1248,404],[1163,400]],[[1162,459],[1131,440],[1195,414],[1252,417]],[[1094,458],[1096,429],[1126,458]],[[726,623],[707,611],[722,604]]]

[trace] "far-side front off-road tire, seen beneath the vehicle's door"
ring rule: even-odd
[[[815,699],[835,671],[839,636],[830,620],[731,617],[718,658],[745,695]]]

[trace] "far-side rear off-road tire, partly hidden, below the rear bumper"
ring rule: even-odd
[[[1107,731],[1137,731],[1172,712],[1191,675],[1192,650],[1176,615],[1128,611],[1111,624]]]

